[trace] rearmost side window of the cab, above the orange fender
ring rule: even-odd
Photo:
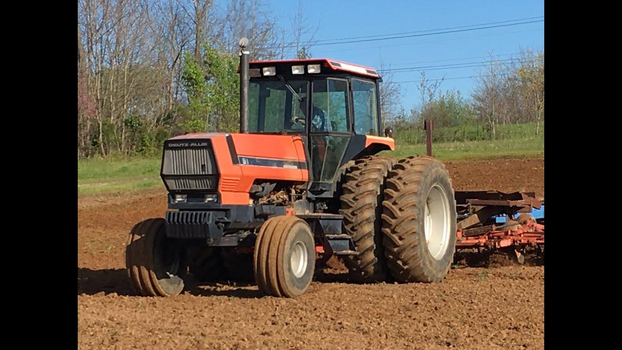
[[[376,84],[353,79],[354,125],[358,135],[378,135]]]

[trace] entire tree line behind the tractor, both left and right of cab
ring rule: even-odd
[[[78,159],[157,154],[172,135],[238,130],[238,40],[251,60],[310,58],[319,23],[300,1],[277,21],[267,0],[78,0]],[[287,22],[287,26],[279,23]],[[381,64],[380,69],[386,65]],[[544,52],[493,57],[471,98],[422,77],[421,105],[383,74],[381,111],[394,128],[544,120]]]

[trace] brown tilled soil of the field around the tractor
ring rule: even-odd
[[[447,163],[457,190],[534,191],[544,159]],[[183,295],[136,296],[124,270],[132,225],[165,192],[78,199],[79,349],[542,349],[544,267],[458,268],[442,283],[345,283],[327,263],[297,300],[254,285],[190,281]]]

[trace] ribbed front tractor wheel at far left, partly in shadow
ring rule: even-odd
[[[129,233],[126,268],[136,291],[144,296],[172,296],[183,290],[186,248],[166,237],[164,219],[147,219]]]

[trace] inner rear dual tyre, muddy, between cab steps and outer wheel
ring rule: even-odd
[[[357,159],[345,174],[339,214],[359,254],[343,260],[355,281],[386,280],[381,214],[385,179],[395,162],[388,156],[368,156]]]

